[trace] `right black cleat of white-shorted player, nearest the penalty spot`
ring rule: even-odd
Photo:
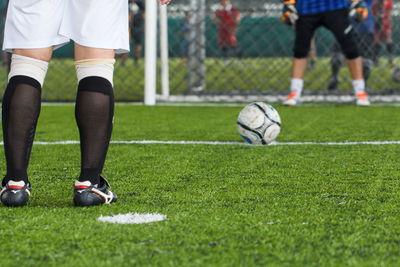
[[[108,190],[109,187],[110,184],[101,176],[98,185],[94,185],[90,181],[76,181],[74,187],[75,206],[96,206],[117,201],[117,195]]]

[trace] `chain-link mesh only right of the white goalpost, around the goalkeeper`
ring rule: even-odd
[[[225,14],[218,14],[220,6],[216,0],[177,0],[170,7],[172,94],[276,95],[288,92],[294,30],[280,21],[281,1],[232,0],[231,3],[241,15],[236,28],[221,22],[233,23],[235,12],[226,9]],[[379,13],[375,23],[386,23],[384,12],[387,10],[375,7],[372,13]],[[395,1],[390,14],[392,41],[384,38],[389,37],[384,36],[389,34],[386,25],[380,25],[379,38],[374,37],[373,28],[354,25],[367,59],[364,63],[371,94],[392,94],[400,89],[397,67],[400,64],[397,59],[400,53],[399,12],[400,3]],[[225,17],[218,20],[218,16]],[[374,26],[374,22],[370,24]],[[236,31],[237,43],[230,44],[228,40],[224,44],[221,38],[231,37],[221,27],[227,27],[226,31],[231,33]],[[384,30],[386,32],[382,33]],[[310,52],[305,76],[306,94],[351,92],[350,75],[343,57],[333,53],[334,43],[333,35],[326,29],[320,28],[316,32],[315,49]],[[367,53],[366,49],[370,51]],[[333,60],[332,55],[335,55]],[[336,70],[332,74],[332,67],[339,69],[337,75]]]

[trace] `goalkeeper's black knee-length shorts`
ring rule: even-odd
[[[354,30],[349,22],[348,9],[345,8],[310,15],[300,15],[296,22],[295,58],[307,57],[310,51],[311,39],[320,26],[324,26],[333,33],[348,59],[354,59],[359,56],[357,43],[354,38]]]

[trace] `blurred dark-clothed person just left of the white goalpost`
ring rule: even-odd
[[[130,5],[130,31],[134,44],[133,58],[135,63],[142,56],[142,43],[144,37],[145,6],[141,0],[132,1]]]

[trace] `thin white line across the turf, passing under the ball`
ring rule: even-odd
[[[131,141],[111,141],[112,144],[168,144],[168,145],[237,145],[237,146],[254,146],[244,142],[219,142],[219,141],[157,141],[157,140],[131,140]],[[3,145],[0,142],[0,145]],[[35,145],[75,145],[79,141],[54,141],[43,142],[36,141]],[[270,146],[352,146],[352,145],[400,145],[400,141],[359,141],[359,142],[273,142]]]

